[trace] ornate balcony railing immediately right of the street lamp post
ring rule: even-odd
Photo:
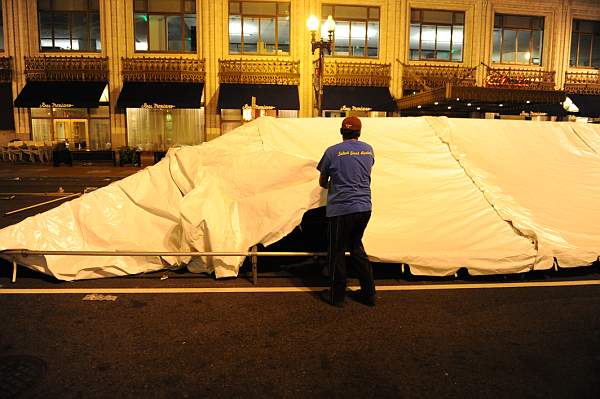
[[[317,61],[315,61],[315,63],[316,62]],[[390,64],[325,61],[323,73],[324,86],[388,87],[390,85],[390,80]]]

